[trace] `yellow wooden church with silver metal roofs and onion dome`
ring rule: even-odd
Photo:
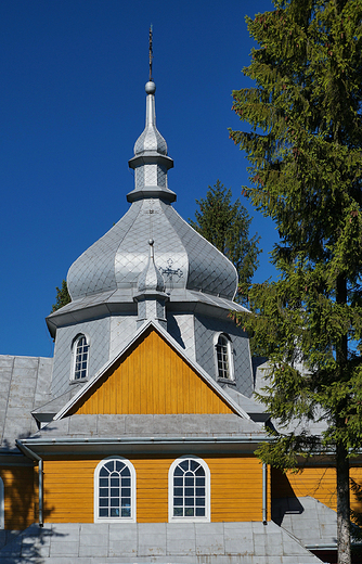
[[[129,210],[72,265],[54,358],[0,357],[0,563],[333,562],[333,464],[255,456],[269,415],[229,318],[237,274],[172,206],[145,90]]]

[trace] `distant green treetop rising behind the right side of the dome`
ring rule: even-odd
[[[238,273],[240,293],[237,299],[245,302],[247,289],[258,267],[259,239],[249,239],[251,218],[237,198],[231,202],[231,190],[221,184],[208,187],[206,198],[196,200],[199,210],[195,211],[196,221],[190,225],[223,253],[235,266]]]

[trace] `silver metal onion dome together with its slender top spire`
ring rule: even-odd
[[[237,287],[234,266],[170,205],[176,198],[167,185],[172,159],[156,128],[154,82],[147,82],[146,91],[146,127],[130,161],[135,187],[127,197],[132,205],[72,265],[67,278],[72,299],[117,290],[137,291],[147,264],[147,240],[153,239],[155,260],[170,299],[174,291],[188,290],[232,300]],[[129,297],[131,300],[132,295]]]

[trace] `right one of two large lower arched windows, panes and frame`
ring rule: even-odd
[[[210,521],[210,471],[193,456],[180,457],[168,472],[169,523]]]

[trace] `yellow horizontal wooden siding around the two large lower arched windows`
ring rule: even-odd
[[[129,459],[137,476],[138,523],[168,521],[168,471],[174,458]],[[261,521],[260,461],[249,456],[206,457],[203,460],[211,474],[211,521]],[[99,459],[44,461],[47,522],[93,522],[93,476],[99,462]]]

